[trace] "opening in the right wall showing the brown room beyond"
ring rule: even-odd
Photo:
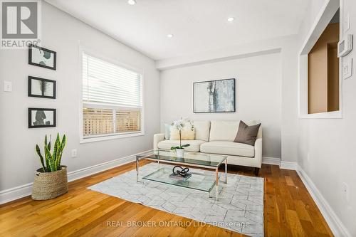
[[[308,114],[333,112],[340,108],[339,58],[340,10],[308,53]]]

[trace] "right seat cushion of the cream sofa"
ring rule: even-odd
[[[204,153],[229,154],[240,157],[255,156],[255,147],[238,142],[206,142],[201,144],[200,151]]]

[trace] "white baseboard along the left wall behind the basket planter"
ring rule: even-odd
[[[148,152],[148,151],[147,151]],[[142,153],[142,152],[140,152]],[[137,153],[138,154],[138,153]],[[73,172],[68,172],[68,181],[74,181],[76,179],[81,179],[83,177],[88,177],[92,174],[97,174],[99,172],[103,172],[108,169],[112,169],[118,167],[123,164],[127,164],[133,162],[135,160],[136,154],[132,154],[127,157],[122,157],[119,159],[114,159],[110,162],[104,162],[101,164],[95,164],[91,167],[86,167],[83,169],[78,169]],[[21,199],[24,196],[31,195],[32,192],[32,184],[23,184],[21,186],[16,186],[11,189],[6,189],[0,191],[0,204],[5,204],[9,201],[14,201],[16,199]]]

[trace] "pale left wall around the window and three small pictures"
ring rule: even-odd
[[[152,148],[153,134],[159,131],[159,72],[155,62],[63,11],[42,4],[42,46],[57,52],[57,70],[28,65],[28,51],[0,51],[0,191],[33,181],[41,167],[35,145],[43,144],[44,135],[56,132],[68,136],[63,164],[68,171],[90,167]],[[103,56],[145,71],[145,136],[79,144],[78,41],[103,53]],[[56,100],[28,98],[28,75],[57,81]],[[3,80],[14,84],[12,93],[4,93]],[[57,109],[57,127],[27,128],[28,107]],[[78,157],[70,150],[77,148]]]

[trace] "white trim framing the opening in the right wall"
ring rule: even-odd
[[[340,8],[340,38],[343,35],[342,0],[325,2],[298,53],[298,117],[300,119],[342,118],[342,58],[339,60],[339,110],[308,114],[308,53]]]

